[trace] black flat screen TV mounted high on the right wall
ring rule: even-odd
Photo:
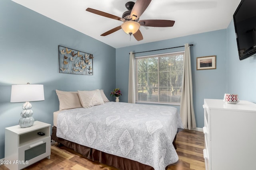
[[[256,0],[241,0],[234,15],[239,59],[256,54]]]

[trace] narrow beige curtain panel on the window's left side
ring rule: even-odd
[[[129,64],[129,82],[128,82],[128,103],[135,103],[135,59],[132,51],[130,52],[130,64]]]

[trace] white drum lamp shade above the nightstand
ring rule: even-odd
[[[17,84],[12,85],[10,102],[32,102],[44,100],[44,85]]]

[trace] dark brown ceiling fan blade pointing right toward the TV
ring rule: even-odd
[[[141,26],[148,27],[172,27],[175,21],[172,20],[140,20]]]

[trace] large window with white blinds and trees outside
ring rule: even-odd
[[[136,102],[179,105],[184,51],[136,57]]]

